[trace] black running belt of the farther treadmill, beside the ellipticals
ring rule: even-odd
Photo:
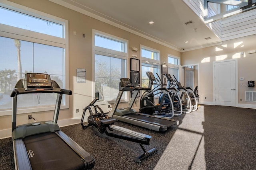
[[[136,113],[130,113],[125,115],[124,117],[129,117],[130,119],[135,119],[135,120],[139,120],[139,121],[143,121],[146,123],[151,123],[151,124],[155,124],[155,125],[166,125],[167,127],[171,127],[172,125],[175,125],[176,122],[175,121],[170,121],[170,120],[166,120],[166,119],[160,119],[157,117],[150,117],[150,116],[146,116],[146,115],[140,115],[140,114],[136,114]]]

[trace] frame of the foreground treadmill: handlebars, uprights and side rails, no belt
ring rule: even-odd
[[[76,152],[81,159],[84,161],[84,166],[86,169],[91,169],[94,167],[94,158],[86,152],[82,147],[80,147],[76,142],[74,142],[70,137],[68,137],[64,132],[60,130],[60,127],[57,124],[58,115],[60,111],[60,105],[62,100],[62,94],[71,95],[71,90],[61,89],[58,84],[52,80],[52,84],[56,85],[56,88],[53,90],[28,90],[26,91],[24,87],[20,85],[24,80],[19,80],[15,86],[15,89],[11,93],[12,97],[12,142],[14,150],[14,164],[16,170],[32,170],[26,146],[23,139],[29,135],[36,135],[38,133],[45,132],[55,132],[58,137],[60,137],[69,147],[71,147],[74,152]],[[18,86],[18,87],[17,87]],[[28,94],[28,93],[57,93],[57,99],[54,110],[53,121],[42,121],[35,123],[28,123],[25,125],[19,125],[16,127],[16,115],[17,115],[17,96],[19,94]],[[32,127],[33,128],[28,128]],[[28,130],[30,129],[30,130]],[[32,130],[31,130],[32,129]],[[38,131],[38,129],[40,129]]]

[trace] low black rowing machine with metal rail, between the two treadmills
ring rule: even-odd
[[[116,126],[114,123],[118,121],[116,118],[109,117],[107,114],[102,111],[100,106],[94,105],[97,100],[99,100],[99,93],[96,92],[96,98],[84,108],[84,112],[81,118],[81,125],[82,128],[85,129],[90,126],[94,126],[98,129],[100,133],[105,133],[110,137],[115,137],[118,139],[124,139],[126,141],[132,141],[135,143],[139,143],[140,147],[144,151],[144,154],[135,158],[136,162],[141,162],[143,159],[147,158],[148,156],[156,153],[158,150],[153,148],[151,150],[146,150],[144,145],[150,145],[150,141],[152,139],[151,136],[145,135],[143,133],[138,133],[136,131],[132,131],[130,129],[126,129],[124,127]],[[89,111],[90,115],[88,116],[88,125],[84,124],[84,116],[86,111]],[[120,135],[117,133],[111,133],[109,131],[120,131],[122,133],[126,133],[130,136]]]

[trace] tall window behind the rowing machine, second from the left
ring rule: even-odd
[[[102,104],[112,103],[119,92],[120,78],[126,77],[128,40],[93,30],[95,92]],[[128,100],[124,93],[122,100]]]

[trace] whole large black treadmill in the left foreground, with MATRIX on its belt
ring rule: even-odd
[[[20,94],[56,93],[52,121],[16,126],[17,98]],[[87,170],[94,167],[94,158],[60,130],[57,124],[62,95],[71,95],[50,79],[50,75],[26,73],[11,93],[12,142],[16,170]]]

